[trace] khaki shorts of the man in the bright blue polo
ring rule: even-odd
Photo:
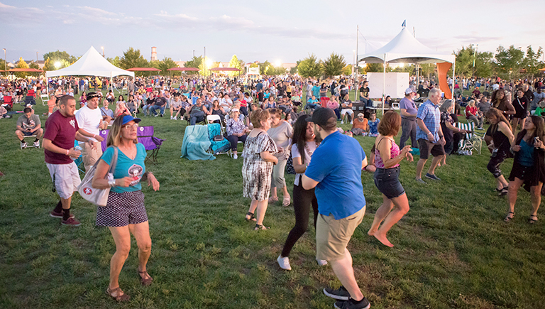
[[[316,259],[336,261],[344,258],[346,246],[365,215],[365,206],[355,214],[336,220],[319,214],[316,221]]]

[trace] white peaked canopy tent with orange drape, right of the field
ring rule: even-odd
[[[384,86],[382,89],[382,102],[384,102],[387,63],[414,63],[417,65],[420,63],[452,63],[454,65],[456,56],[431,50],[431,48],[428,48],[414,38],[407,28],[403,27],[401,32],[390,40],[389,43],[382,46],[382,48],[373,50],[373,52],[366,53],[365,55],[358,55],[358,63],[359,61],[364,61],[365,63],[382,63],[384,65]],[[384,114],[384,104],[382,104],[382,114]]]

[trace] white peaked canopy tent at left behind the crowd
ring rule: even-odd
[[[123,70],[109,63],[106,58],[91,46],[87,53],[82,55],[73,65],[56,71],[46,71],[45,80],[48,77],[56,76],[101,76],[101,77],[116,77],[119,75],[128,75],[134,78],[134,72]],[[110,82],[111,85],[111,82]],[[46,87],[49,95],[49,87]]]

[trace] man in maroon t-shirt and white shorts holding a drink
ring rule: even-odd
[[[72,193],[81,183],[74,160],[81,152],[74,148],[74,140],[87,141],[92,148],[97,146],[92,139],[79,133],[79,126],[75,118],[76,100],[70,95],[63,95],[59,99],[59,109],[45,121],[43,134],[43,148],[45,163],[48,166],[55,190],[60,196],[60,202],[51,217],[62,218],[63,225],[79,226],[81,224],[74,215],[70,215]]]

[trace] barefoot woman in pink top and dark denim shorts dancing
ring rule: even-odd
[[[378,136],[375,140],[375,185],[382,193],[382,205],[375,213],[375,219],[367,234],[374,236],[385,246],[394,246],[386,238],[386,233],[409,211],[409,200],[400,183],[400,162],[403,158],[412,161],[411,146],[400,147],[394,136],[400,131],[401,116],[389,111],[382,116],[378,124]],[[380,223],[382,226],[378,228]]]

